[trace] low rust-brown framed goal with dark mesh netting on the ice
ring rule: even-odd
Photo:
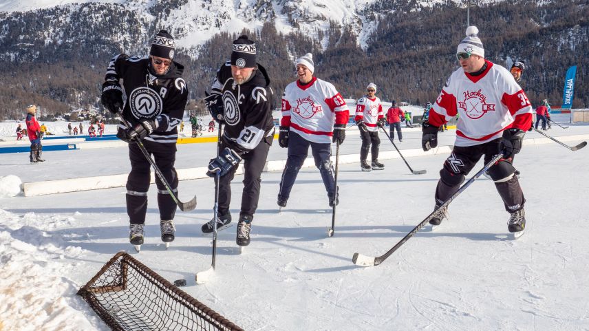
[[[78,295],[111,330],[243,331],[124,252]]]

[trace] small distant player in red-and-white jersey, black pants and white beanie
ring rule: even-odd
[[[378,162],[378,149],[381,146],[381,138],[378,138],[378,128],[385,127],[385,113],[381,99],[376,96],[376,84],[370,83],[366,87],[366,95],[358,99],[356,103],[356,117],[354,118],[362,147],[360,148],[360,167],[362,171],[382,170],[385,164]],[[368,150],[372,144],[372,162],[366,161]]]

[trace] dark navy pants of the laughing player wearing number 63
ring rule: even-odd
[[[325,191],[328,192],[328,197],[331,197],[335,191],[335,179],[334,169],[331,157],[331,144],[310,142],[305,138],[299,136],[295,132],[290,131],[288,135],[288,158],[286,159],[286,166],[282,171],[282,179],[280,180],[280,190],[278,197],[284,200],[288,200],[290,197],[290,190],[297,180],[299,170],[303,166],[303,162],[307,158],[309,153],[309,147],[311,147],[311,153],[315,160],[315,167],[319,169],[321,173],[321,179],[323,185],[325,185]]]

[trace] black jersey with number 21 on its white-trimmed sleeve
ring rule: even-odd
[[[264,138],[274,134],[272,120],[273,92],[270,78],[261,65],[253,78],[238,85],[231,76],[231,63],[217,71],[212,93],[218,94],[224,107],[225,142],[238,153],[254,149]]]

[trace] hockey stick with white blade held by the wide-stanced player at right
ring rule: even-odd
[[[493,164],[495,164],[495,162],[499,161],[502,157],[503,157],[503,154],[500,153],[497,156],[495,156],[495,158],[493,158],[491,161],[489,161],[489,163],[485,164],[484,167],[478,171],[478,173],[475,173],[475,175],[473,175],[473,178],[469,179],[468,182],[465,182],[462,186],[460,186],[460,189],[458,189],[458,191],[456,191],[456,193],[454,193],[451,197],[449,197],[448,200],[446,200],[443,204],[440,204],[440,206],[438,206],[437,209],[435,209],[433,212],[431,212],[431,214],[429,214],[427,217],[425,217],[425,219],[422,220],[420,224],[417,224],[417,226],[415,228],[413,228],[413,230],[411,230],[411,232],[407,233],[407,235],[405,235],[405,237],[403,237],[403,239],[401,239],[400,242],[398,242],[395,246],[393,246],[393,248],[389,249],[389,251],[387,253],[385,253],[381,256],[378,256],[378,257],[370,257],[370,256],[362,255],[359,253],[354,253],[354,257],[352,257],[352,261],[354,262],[354,264],[356,264],[357,266],[378,266],[378,264],[383,263],[383,261],[385,261],[385,259],[387,259],[387,257],[389,257],[393,253],[395,253],[395,250],[397,250],[400,246],[403,246],[403,244],[405,244],[405,242],[407,242],[407,240],[409,240],[409,238],[413,237],[413,235],[415,235],[417,233],[417,231],[420,231],[420,229],[423,226],[425,226],[425,224],[427,224],[427,222],[429,222],[429,220],[431,220],[431,218],[433,217],[433,215],[437,211],[448,206],[450,204],[450,202],[452,202],[452,200],[456,199],[456,197],[458,197],[458,195],[460,195],[460,193],[462,193],[462,191],[467,189],[467,187],[469,187],[477,178],[479,178],[480,175],[482,175],[485,171],[489,170],[489,168],[491,168],[493,166]]]

